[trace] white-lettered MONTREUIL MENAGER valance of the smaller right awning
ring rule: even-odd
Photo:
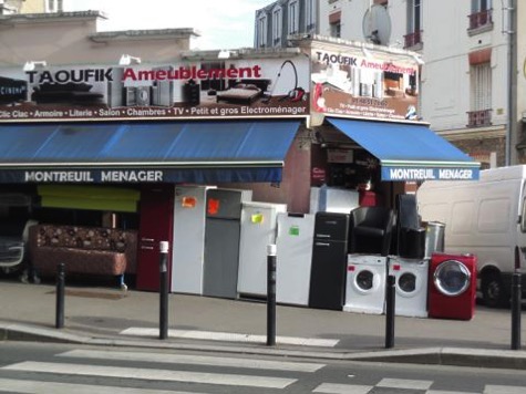
[[[388,167],[382,166],[382,180],[477,180],[478,167]]]

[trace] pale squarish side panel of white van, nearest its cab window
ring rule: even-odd
[[[509,198],[485,199],[478,211],[478,231],[486,234],[506,234],[509,229]]]

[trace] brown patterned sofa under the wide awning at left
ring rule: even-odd
[[[66,273],[118,276],[126,289],[124,274],[136,272],[134,230],[37,225],[30,228],[29,240],[31,263],[42,276],[55,274],[62,262]]]

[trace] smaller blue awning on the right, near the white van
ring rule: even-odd
[[[328,121],[380,160],[382,180],[476,180],[481,164],[421,124]]]

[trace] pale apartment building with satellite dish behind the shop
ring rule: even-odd
[[[526,163],[524,21],[517,0],[278,0],[256,12],[255,43],[298,33],[415,51],[422,120],[489,167]]]

